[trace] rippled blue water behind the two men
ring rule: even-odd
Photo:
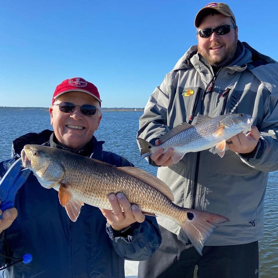
[[[137,162],[140,152],[136,143],[138,119],[141,111],[104,111],[95,136],[106,141],[104,149],[127,158],[136,167],[156,175],[156,168],[145,160]],[[48,111],[1,110],[0,161],[11,157],[12,140],[28,132],[52,129]],[[278,171],[269,174],[265,198],[264,237],[259,242],[261,278],[278,277]]]

